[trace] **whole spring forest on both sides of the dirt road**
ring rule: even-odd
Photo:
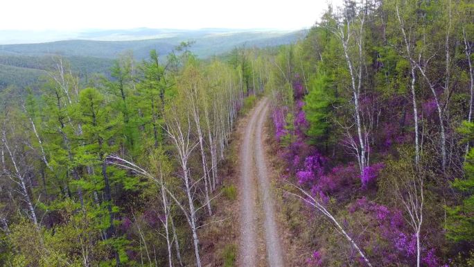
[[[236,266],[222,214],[265,98],[285,266],[474,266],[474,3],[316,20],[294,44],[182,42],[87,79],[55,55],[40,86],[3,89],[0,264]]]

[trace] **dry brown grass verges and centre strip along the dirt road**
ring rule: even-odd
[[[220,164],[220,178],[222,183],[216,190],[216,194],[220,193],[223,187],[229,187],[234,185],[237,189],[239,188],[240,182],[240,144],[242,144],[243,131],[249,120],[248,112],[247,115],[238,119],[236,123],[236,130],[233,132],[229,149],[225,155],[225,161]],[[305,241],[301,239],[304,233],[301,232],[299,227],[293,225],[298,221],[304,221],[304,215],[301,214],[301,203],[299,200],[294,198],[284,198],[284,188],[288,187],[288,184],[281,179],[281,175],[284,173],[286,166],[285,162],[279,158],[278,150],[279,145],[271,135],[272,125],[270,120],[267,121],[264,135],[265,135],[265,154],[267,155],[269,173],[271,173],[272,182],[274,185],[274,200],[276,202],[277,212],[277,223],[279,224],[279,232],[281,233],[281,240],[283,241],[283,251],[286,253],[284,256],[286,266],[306,266],[305,259],[310,255],[301,254],[305,251]],[[237,192],[240,195],[240,192]],[[218,196],[213,200],[213,216],[208,218],[204,222],[210,223],[200,230],[200,241],[202,250],[202,263],[205,267],[224,266],[225,261],[225,250],[229,249],[229,246],[234,246],[233,249],[238,253],[238,238],[239,238],[239,199],[240,196],[231,200],[226,198],[224,195]],[[258,206],[261,203],[258,203]],[[262,222],[262,214],[257,214],[258,222]],[[211,223],[212,221],[218,221],[218,223]],[[292,226],[293,225],[293,226]],[[304,225],[304,224],[301,224]],[[261,259],[258,262],[264,267],[265,263],[265,240],[261,238],[263,236],[263,225],[259,223],[258,227],[258,255]],[[307,241],[306,241],[307,242]],[[255,266],[261,267],[261,266]]]

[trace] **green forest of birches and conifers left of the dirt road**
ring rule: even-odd
[[[37,91],[3,90],[2,264],[201,266],[198,231],[226,196],[220,162],[268,64],[186,47],[166,64],[123,55],[87,80],[55,56]]]

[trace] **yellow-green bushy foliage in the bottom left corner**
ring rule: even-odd
[[[88,257],[91,266],[98,266],[100,258],[109,255],[109,247],[99,241],[91,223],[94,217],[89,212],[77,212],[78,207],[72,200],[51,205],[64,220],[54,229],[38,228],[28,221],[12,225],[9,240],[16,253],[9,261],[13,266],[83,266],[82,257]]]

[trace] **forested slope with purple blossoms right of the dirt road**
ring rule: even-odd
[[[473,265],[473,21],[469,1],[347,1],[277,55],[308,265]]]

